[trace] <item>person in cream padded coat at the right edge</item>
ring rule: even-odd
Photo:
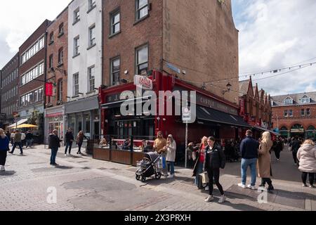
[[[310,179],[310,188],[315,188],[314,177],[316,173],[316,148],[315,143],[308,139],[304,141],[298,149],[297,158],[299,160],[298,169],[302,172],[303,187],[307,187],[307,175]]]

